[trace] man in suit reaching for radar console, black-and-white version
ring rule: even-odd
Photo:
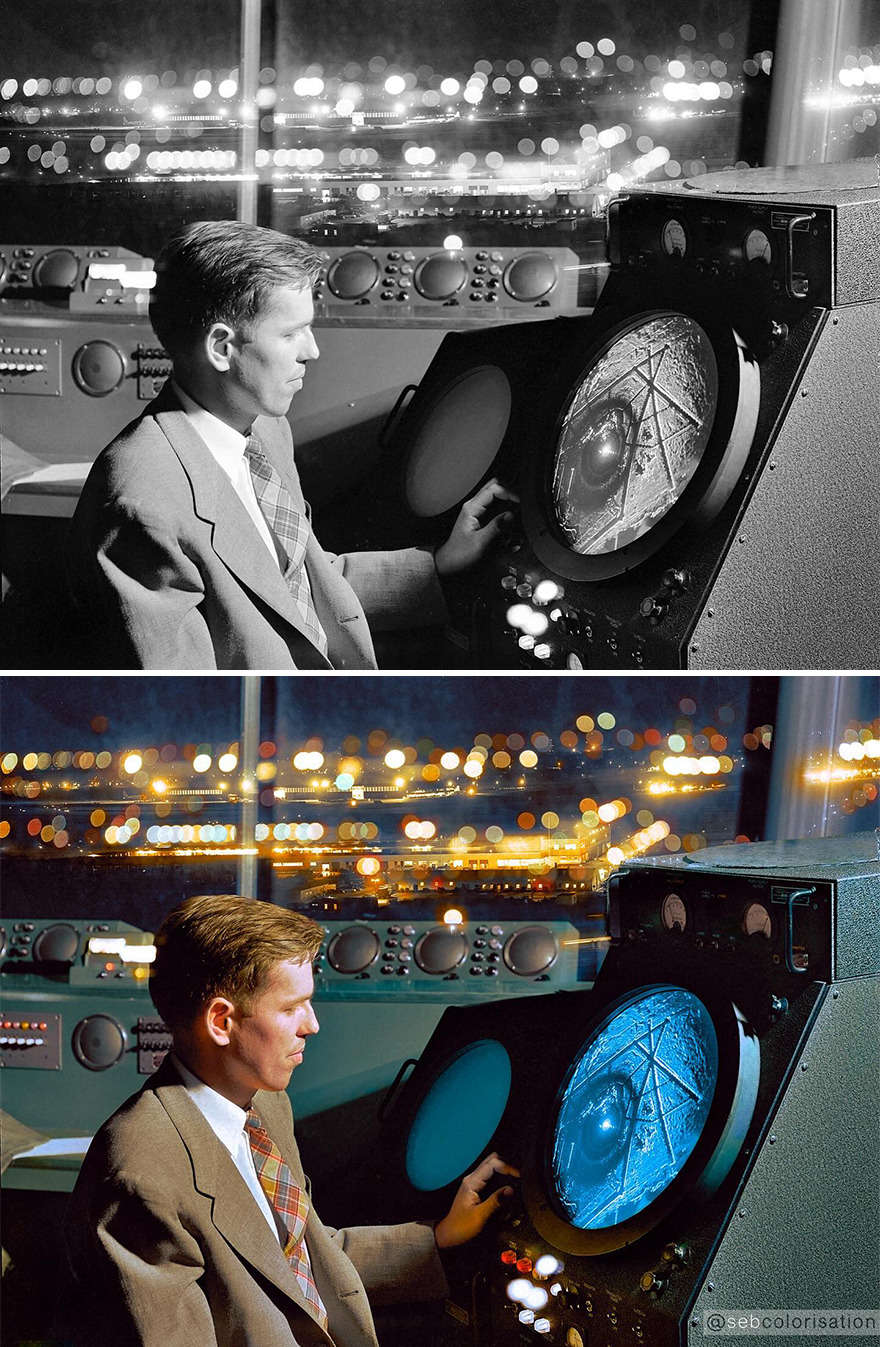
[[[321,548],[286,420],[318,357],[319,271],[302,240],[234,221],[164,249],[150,315],[172,377],[100,454],[70,529],[82,667],[375,668],[368,622],[442,621],[439,577],[504,529],[492,481],[435,555]]]

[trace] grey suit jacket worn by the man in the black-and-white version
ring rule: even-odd
[[[284,418],[253,432],[309,515]],[[441,622],[445,602],[422,548],[333,556],[314,535],[306,570],[329,657],[232,482],[171,384],[96,459],[67,543],[81,668],[375,668],[376,630]]]

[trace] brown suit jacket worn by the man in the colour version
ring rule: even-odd
[[[290,1099],[259,1092],[253,1106],[309,1191]],[[94,1137],[66,1224],[82,1347],[376,1347],[367,1290],[391,1303],[447,1289],[431,1226],[332,1230],[313,1208],[325,1332],[171,1061]]]

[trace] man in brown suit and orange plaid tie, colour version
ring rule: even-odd
[[[431,1230],[330,1230],[310,1202],[286,1087],[318,1032],[322,931],[252,898],[187,898],[151,979],[174,1051],[104,1123],[67,1218],[82,1347],[376,1347],[376,1301],[446,1289],[438,1249],[505,1195],[491,1156]]]

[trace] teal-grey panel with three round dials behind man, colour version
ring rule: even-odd
[[[345,997],[505,995],[578,981],[577,927],[567,921],[323,923],[315,991]]]

